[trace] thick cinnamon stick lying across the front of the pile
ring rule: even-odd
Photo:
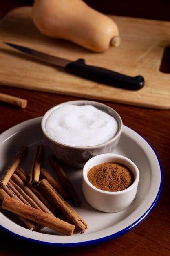
[[[24,218],[35,221],[40,225],[44,225],[65,235],[72,235],[75,229],[74,225],[32,208],[13,198],[4,198],[2,208],[15,214],[20,214]]]

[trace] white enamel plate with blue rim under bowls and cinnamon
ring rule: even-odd
[[[51,152],[44,143],[41,120],[42,117],[38,117],[25,121],[0,135],[0,178],[24,145],[29,146],[29,150],[20,167],[30,173],[35,146],[42,143],[44,144],[43,167],[56,178],[47,159]],[[49,228],[44,228],[39,232],[30,231],[13,213],[2,208],[0,208],[0,227],[19,238],[58,247],[79,247],[103,243],[135,228],[151,213],[159,200],[163,186],[161,163],[148,142],[126,126],[123,126],[121,139],[114,153],[130,158],[140,172],[137,195],[126,210],[118,213],[103,213],[90,207],[82,193],[82,169],[64,166],[64,170],[82,200],[81,206],[75,209],[89,225],[84,234],[79,234],[76,230],[72,236],[65,236]]]

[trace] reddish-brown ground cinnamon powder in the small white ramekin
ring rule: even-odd
[[[96,165],[88,171],[87,177],[93,186],[110,192],[124,190],[134,180],[132,172],[118,163]]]

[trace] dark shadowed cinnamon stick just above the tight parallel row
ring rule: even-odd
[[[22,169],[16,169],[15,173],[20,177],[20,179],[29,186],[29,175]],[[42,188],[29,186],[29,189],[45,204],[45,206],[54,214],[58,211],[58,208],[54,206],[54,204],[51,203],[51,199],[47,198],[47,196],[44,196],[44,191]]]

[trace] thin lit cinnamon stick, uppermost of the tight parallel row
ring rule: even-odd
[[[31,191],[31,189],[29,189],[28,186],[26,186],[26,184],[24,184],[24,182],[18,177],[18,175],[16,175],[16,173],[14,173],[12,175],[12,180],[15,181],[15,183],[18,183],[19,186],[24,190],[24,192],[35,202],[35,204],[44,212],[53,215],[53,213],[40,201],[40,199]],[[24,194],[23,194],[24,196]],[[26,199],[27,200],[27,199]],[[31,203],[30,203],[31,204]],[[35,205],[34,204],[34,205]],[[31,204],[32,205],[32,204]],[[36,208],[38,208],[36,207]]]

